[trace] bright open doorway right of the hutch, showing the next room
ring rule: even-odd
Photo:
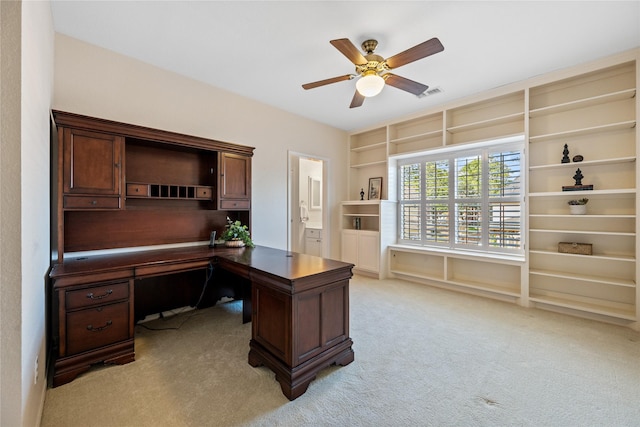
[[[327,159],[289,152],[287,250],[325,257],[329,246]]]

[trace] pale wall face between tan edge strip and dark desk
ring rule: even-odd
[[[53,18],[48,1],[22,3],[21,252],[23,425],[40,422],[46,390],[45,283],[50,255]],[[37,372],[36,372],[36,359]]]

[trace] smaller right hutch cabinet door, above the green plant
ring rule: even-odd
[[[219,209],[249,209],[251,201],[251,157],[219,154]]]

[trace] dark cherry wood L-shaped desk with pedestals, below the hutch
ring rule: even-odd
[[[209,263],[250,280],[249,363],[274,371],[289,399],[303,394],[321,369],[353,361],[352,264],[267,247],[195,246],[76,258],[55,265],[50,274],[53,386],[72,381],[95,363],[135,359],[136,279],[202,269]]]

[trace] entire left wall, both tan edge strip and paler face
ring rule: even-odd
[[[0,82],[0,425],[36,426],[46,390],[51,260],[48,2],[0,2]]]

